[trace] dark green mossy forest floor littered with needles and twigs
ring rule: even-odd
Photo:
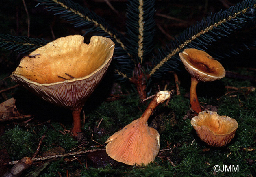
[[[245,69],[239,72],[248,75],[254,73]],[[231,78],[223,78],[217,82],[219,83],[229,87],[220,91],[218,96],[200,96],[199,94],[199,101],[203,106],[212,105],[218,108],[218,114],[237,120],[236,135],[227,146],[209,147],[198,138],[189,117],[185,118],[189,112],[189,98],[186,96],[189,88],[182,87],[181,84],[181,95],[173,95],[167,106],[159,106],[148,121],[160,133],[161,150],[154,162],[138,167],[109,162],[103,158],[101,160],[105,162],[99,162],[101,164],[99,165],[91,162],[89,155],[87,157],[87,154],[82,154],[76,155],[77,159],[63,157],[50,162],[39,177],[64,177],[67,173],[69,176],[81,177],[256,176],[256,92],[255,89],[253,90],[255,83]],[[122,84],[120,85],[122,87]],[[198,89],[202,87],[211,91],[211,88],[204,83],[199,85]],[[252,89],[243,87],[252,87]],[[20,89],[16,88],[14,95],[19,93]],[[25,90],[23,91],[26,93]],[[108,137],[132,120],[139,118],[149,102],[149,100],[147,103],[141,102],[138,95],[132,91],[127,89],[122,91],[122,93],[117,91],[114,97],[113,95],[110,97],[111,99],[102,99],[94,106],[90,106],[89,100],[87,106],[90,109],[84,109],[84,137],[80,140],[72,138],[67,131],[72,124],[71,120],[67,121],[64,118],[71,119],[71,114],[64,112],[67,117],[62,118],[63,110],[54,108],[57,113],[35,116],[33,120],[26,123],[24,120],[5,122],[4,133],[0,136],[0,149],[8,151],[10,161],[19,160],[25,156],[32,157],[44,133],[46,136],[42,141],[39,155],[54,147],[62,147],[65,152],[105,148],[104,143]],[[7,97],[13,96],[6,94]],[[95,95],[91,97],[94,99]],[[38,105],[51,107],[37,97],[33,99],[38,102]],[[49,122],[51,116],[52,120]],[[78,147],[80,144],[83,146]],[[35,163],[30,171],[34,171],[41,163]],[[223,166],[227,166],[227,169],[223,172],[214,172],[215,165],[219,165],[221,170]]]

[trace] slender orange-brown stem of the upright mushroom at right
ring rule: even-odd
[[[190,104],[191,104],[191,109],[193,109],[197,113],[200,113],[202,110],[196,95],[196,85],[198,82],[199,81],[196,78],[191,77]]]

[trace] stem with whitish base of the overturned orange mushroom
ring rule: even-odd
[[[144,123],[147,122],[148,118],[154,111],[154,109],[162,102],[170,98],[170,91],[159,91],[155,97],[152,99],[152,101],[147,106],[147,109],[144,111],[142,116],[139,118],[139,120],[144,121]],[[143,119],[143,120],[142,120]]]

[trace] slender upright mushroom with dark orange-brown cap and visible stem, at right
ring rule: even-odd
[[[186,70],[191,75],[191,108],[199,113],[202,110],[196,95],[197,83],[199,81],[209,82],[221,79],[226,74],[225,69],[217,60],[214,60],[214,58],[203,50],[185,49],[183,52],[179,53],[179,55]]]

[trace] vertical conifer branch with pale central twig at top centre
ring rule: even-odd
[[[127,3],[127,50],[135,64],[142,64],[153,50],[155,0],[129,0]]]

